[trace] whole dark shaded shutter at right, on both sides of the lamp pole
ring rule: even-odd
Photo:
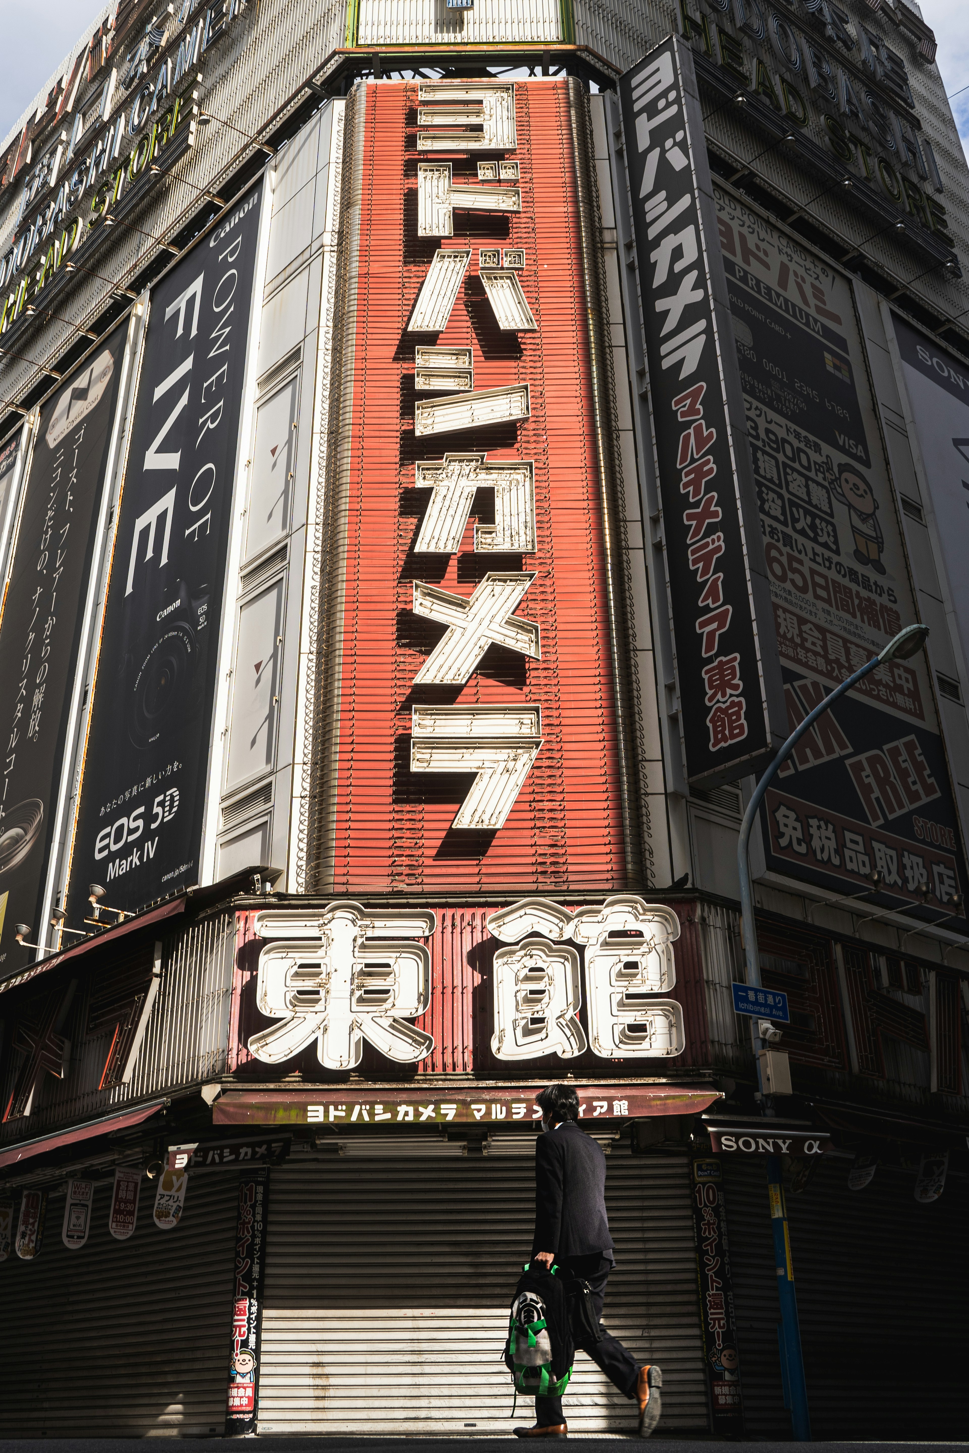
[[[850,1191],[850,1161],[819,1161],[787,1193],[790,1254],[815,1438],[960,1438],[960,1254],[966,1181],[920,1206],[911,1171],[879,1165]],[[750,1436],[790,1437],[764,1161],[723,1158],[731,1268]]]

